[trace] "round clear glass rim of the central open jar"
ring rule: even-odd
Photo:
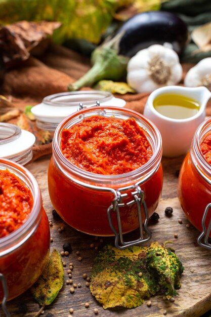
[[[96,174],[96,173],[91,173],[86,170],[80,169],[79,167],[73,165],[63,155],[60,148],[61,133],[63,129],[68,128],[69,124],[72,123],[72,121],[73,121],[73,124],[71,126],[81,121],[84,117],[88,117],[92,115],[100,115],[100,113],[105,114],[104,113],[105,111],[108,111],[107,114],[108,115],[110,114],[112,116],[123,114],[128,117],[134,117],[135,120],[139,120],[140,122],[142,122],[142,125],[143,125],[142,128],[145,131],[145,133],[147,133],[148,138],[149,137],[151,139],[153,138],[153,141],[155,141],[156,146],[154,146],[152,157],[147,163],[145,163],[140,168],[128,173],[117,174],[117,175]],[[153,147],[151,139],[150,139],[150,144]],[[160,163],[161,161],[162,141],[161,141],[161,136],[160,136],[158,128],[141,113],[128,109],[128,108],[119,109],[114,106],[94,106],[92,108],[86,108],[83,110],[79,110],[78,112],[74,112],[70,116],[66,117],[65,120],[63,120],[59,124],[54,134],[52,149],[53,149],[53,154],[56,156],[57,164],[62,165],[62,167],[66,171],[66,176],[68,176],[67,172],[71,171],[73,172],[75,176],[82,178],[84,181],[93,181],[95,183],[98,183],[98,185],[100,185],[102,181],[104,181],[105,183],[114,184],[114,183],[118,183],[119,181],[127,182],[129,178],[131,177],[137,178],[140,176],[140,174],[145,174],[147,176],[148,175],[147,173],[149,173],[149,170],[152,170],[151,168],[152,165],[156,165],[157,167],[158,163]],[[59,159],[59,163],[58,163],[58,159]]]

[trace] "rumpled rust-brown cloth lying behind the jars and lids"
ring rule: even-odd
[[[183,64],[183,78],[193,66]],[[20,109],[35,105],[48,95],[65,92],[91,67],[89,58],[67,48],[51,44],[43,56],[30,57],[5,74],[1,94],[10,98]],[[179,85],[183,85],[183,80]],[[88,88],[83,88],[88,89]],[[149,93],[116,95],[126,101],[126,108],[143,113]],[[206,115],[211,115],[211,102],[207,103]],[[15,123],[15,121],[13,122]],[[34,146],[33,160],[50,154],[51,144]]]

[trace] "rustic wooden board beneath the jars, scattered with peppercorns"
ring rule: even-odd
[[[91,295],[89,287],[85,284],[86,281],[82,278],[83,273],[87,273],[89,276],[94,258],[98,253],[98,250],[91,248],[90,245],[94,244],[100,249],[104,244],[110,243],[112,239],[103,237],[103,242],[100,241],[100,238],[95,240],[95,237],[74,230],[64,224],[62,220],[55,220],[52,216],[53,208],[47,185],[47,170],[50,157],[46,157],[45,159],[30,163],[26,166],[36,177],[40,185],[44,208],[48,214],[49,221],[53,222],[53,226],[51,227],[51,236],[53,237],[51,248],[56,247],[58,251],[62,251],[63,244],[69,242],[73,250],[68,257],[63,258],[63,261],[67,263],[67,266],[64,267],[64,286],[56,300],[47,307],[44,314],[41,315],[47,316],[48,313],[52,313],[54,317],[68,317],[69,308],[73,308],[73,317],[89,317],[95,316],[94,308],[98,308],[99,317],[161,317],[164,316],[163,312],[165,310],[167,312],[166,316],[168,317],[199,317],[211,309],[211,251],[205,250],[197,245],[196,239],[199,232],[193,228],[192,225],[190,225],[189,228],[186,227],[188,221],[180,208],[177,198],[177,172],[180,169],[183,159],[184,157],[162,160],[164,183],[162,199],[156,210],[160,219],[156,224],[150,225],[152,241],[163,243],[167,240],[171,240],[174,242],[174,245],[171,245],[171,247],[174,247],[176,254],[185,267],[185,271],[181,276],[182,287],[178,291],[179,295],[175,297],[175,302],[163,300],[161,295],[156,295],[150,299],[152,303],[151,307],[148,307],[146,304],[147,301],[145,301],[140,307],[130,310],[122,307],[104,310]],[[171,218],[166,217],[164,214],[164,210],[168,206],[174,209]],[[182,219],[182,224],[179,224],[179,218]],[[64,231],[60,233],[58,229],[61,226],[64,226]],[[135,233],[130,235],[133,236]],[[174,236],[175,233],[178,234],[177,239]],[[146,246],[148,245],[149,243],[146,244]],[[81,262],[77,260],[77,251],[80,252]],[[66,284],[66,281],[69,280],[67,270],[70,262],[74,264],[72,270],[73,283],[81,284],[81,288],[76,288],[73,294],[69,292],[70,285]],[[89,308],[85,307],[86,302],[89,302]],[[27,291],[9,302],[8,309],[11,313],[11,317],[32,317],[35,316],[35,313],[39,310],[39,305],[33,300],[30,291]],[[27,309],[26,313],[24,313],[24,309]],[[2,311],[1,313],[4,316]]]

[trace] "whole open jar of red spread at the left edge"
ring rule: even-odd
[[[0,159],[0,302],[35,283],[49,250],[49,222],[35,178],[23,166]]]

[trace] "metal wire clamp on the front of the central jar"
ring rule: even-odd
[[[121,191],[123,190],[127,190],[127,189],[135,189],[135,191],[133,191],[131,194],[133,195],[134,199],[126,204],[124,204],[122,202],[122,199],[124,199],[124,197],[128,196],[127,193],[121,193]],[[121,219],[120,219],[120,212],[119,212],[119,208],[121,207],[126,207],[126,206],[132,206],[136,204],[137,206],[137,211],[138,211],[138,219],[139,219],[139,230],[140,230],[140,237],[137,240],[134,241],[129,241],[129,242],[124,242],[123,241],[123,236],[122,236],[122,228],[121,228]],[[141,215],[141,205],[143,206],[144,209],[144,214],[145,214],[145,221],[144,224],[142,224],[142,215]],[[117,217],[117,224],[118,224],[118,232],[115,230],[112,220],[111,220],[111,211],[116,212],[116,217]],[[148,220],[149,220],[149,215],[148,215],[148,210],[147,210],[147,206],[146,203],[144,201],[144,192],[141,189],[140,186],[138,185],[133,185],[130,186],[128,188],[119,188],[118,190],[115,191],[115,198],[112,201],[112,204],[110,205],[110,207],[107,210],[108,213],[108,220],[109,220],[109,225],[111,227],[111,230],[113,231],[113,233],[115,234],[115,247],[118,249],[125,249],[125,248],[129,248],[132,246],[136,246],[139,245],[141,243],[144,243],[146,241],[149,241],[151,239],[151,232],[148,229],[147,225],[148,225]],[[144,232],[143,232],[143,226],[144,226],[144,230],[147,234],[147,236],[144,239]],[[120,244],[119,244],[120,242]]]

